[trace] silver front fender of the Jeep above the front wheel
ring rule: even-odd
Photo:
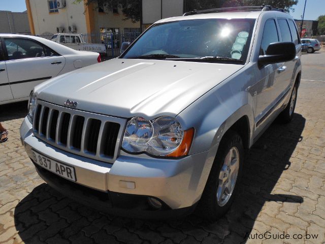
[[[246,69],[236,77],[229,77],[177,115],[184,128],[195,129],[190,154],[213,148],[242,116],[249,121],[248,145],[251,145],[256,105],[255,78],[251,72],[252,69]]]

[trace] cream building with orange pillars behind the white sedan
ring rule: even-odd
[[[120,8],[107,10],[97,4],[74,0],[25,0],[31,33],[116,33],[140,32],[140,22],[125,19]]]

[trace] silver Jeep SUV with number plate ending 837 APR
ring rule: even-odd
[[[41,177],[116,215],[223,215],[301,77],[294,19],[248,10],[159,20],[118,58],[36,86],[20,135]]]

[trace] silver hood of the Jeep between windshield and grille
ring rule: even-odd
[[[38,99],[118,117],[176,116],[242,65],[121,59],[73,71],[35,87]]]

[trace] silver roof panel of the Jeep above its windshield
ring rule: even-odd
[[[208,13],[208,14],[192,14],[186,16],[170,17],[161,19],[155,23],[164,23],[178,20],[189,20],[189,19],[257,19],[267,13],[273,13],[277,17],[293,19],[289,14],[280,11],[238,11],[238,12],[219,12],[219,13]]]

